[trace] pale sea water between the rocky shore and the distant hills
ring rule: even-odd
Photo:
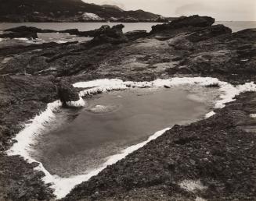
[[[0,34],[4,30],[13,28],[16,26],[34,26],[40,29],[50,29],[50,30],[68,30],[68,29],[78,29],[80,31],[86,30],[96,30],[100,26],[109,25],[114,26],[120,23],[0,23]],[[133,30],[146,30],[150,32],[151,27],[159,23],[123,23],[124,33]],[[256,21],[251,22],[235,22],[235,21],[218,21],[215,24],[224,24],[237,32],[244,29],[256,28]],[[28,40],[27,38],[15,38],[9,40],[8,38],[0,38],[0,48],[14,47],[18,45],[29,45],[29,44],[43,44],[49,42],[56,43],[66,43],[72,41],[84,42],[90,41],[92,37],[78,37],[70,35],[69,33],[38,33],[38,39]]]

